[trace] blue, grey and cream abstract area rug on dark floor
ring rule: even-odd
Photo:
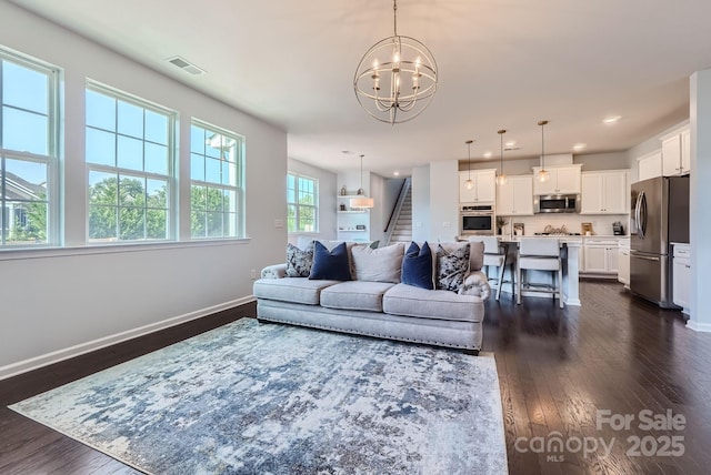
[[[10,406],[153,474],[503,474],[492,355],[242,319]]]

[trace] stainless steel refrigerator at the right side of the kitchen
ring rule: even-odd
[[[672,309],[671,243],[689,242],[689,176],[632,183],[630,290]]]

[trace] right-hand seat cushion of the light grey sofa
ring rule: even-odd
[[[482,300],[449,291],[428,291],[412,285],[393,285],[382,299],[384,313],[420,319],[481,322]]]

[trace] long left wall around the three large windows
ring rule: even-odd
[[[64,218],[58,251],[0,252],[0,378],[180,320],[251,300],[251,271],[283,260],[287,135],[8,2],[0,44],[64,70]],[[189,176],[190,118],[246,137],[247,241],[87,249],[84,81],[107,83],[180,114],[180,176]],[[189,234],[189,183],[180,189]]]

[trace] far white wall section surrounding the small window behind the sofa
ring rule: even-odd
[[[308,233],[308,235],[326,241],[334,240],[336,209],[338,208],[336,195],[340,190],[340,188],[337,190],[336,173],[293,159],[289,159],[288,168],[291,173],[309,176],[319,181],[319,232]],[[287,201],[286,189],[283,200],[284,202]],[[289,234],[289,242],[294,245],[298,244],[299,235],[306,235],[306,233]]]

